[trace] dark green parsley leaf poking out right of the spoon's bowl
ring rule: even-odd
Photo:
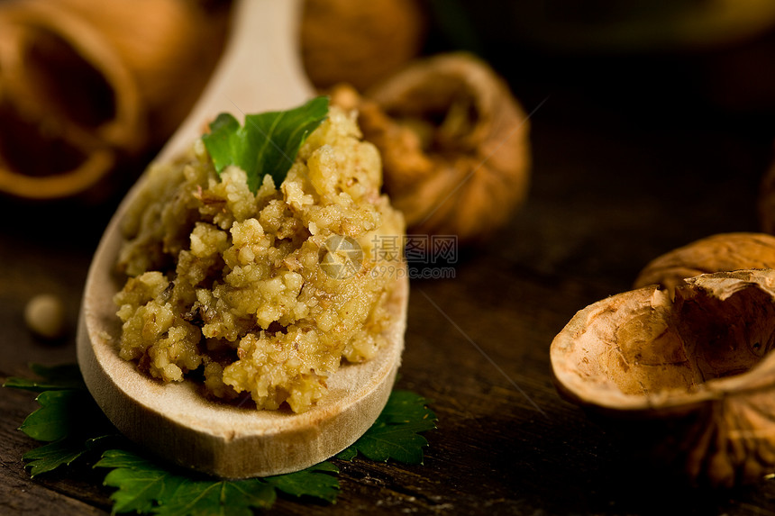
[[[371,428],[336,457],[352,460],[360,453],[371,460],[423,464],[423,448],[428,441],[420,432],[436,428],[437,420],[428,403],[417,394],[394,391]]]

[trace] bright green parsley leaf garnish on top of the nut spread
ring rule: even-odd
[[[248,114],[245,125],[229,113],[221,113],[202,136],[215,170],[236,165],[248,174],[253,194],[265,176],[280,186],[307,135],[325,120],[328,97],[318,96],[288,111]]]

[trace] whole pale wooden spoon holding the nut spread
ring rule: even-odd
[[[286,109],[313,95],[299,64],[300,0],[241,0],[232,38],[196,108],[161,151],[169,160],[186,149],[217,113]],[[143,181],[139,181],[139,184]],[[189,381],[162,385],[118,356],[121,323],[114,274],[121,221],[132,188],[108,225],[89,269],[80,321],[78,363],[107,417],[128,438],[179,465],[222,477],[278,475],[313,466],[351,445],[387,403],[404,347],[408,281],[397,279],[387,346],[359,365],[342,365],[328,393],[308,412],[257,411],[214,403]]]

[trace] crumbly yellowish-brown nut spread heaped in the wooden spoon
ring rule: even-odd
[[[204,144],[154,166],[124,223],[120,355],[163,382],[309,409],[342,358],[375,356],[404,221],[379,194],[378,150],[332,108],[277,188],[217,177]],[[387,239],[387,240],[386,240]],[[394,246],[400,248],[400,246]]]

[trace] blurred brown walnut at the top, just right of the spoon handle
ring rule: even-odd
[[[424,36],[416,0],[305,0],[302,62],[316,87],[343,82],[362,91],[419,55]]]

